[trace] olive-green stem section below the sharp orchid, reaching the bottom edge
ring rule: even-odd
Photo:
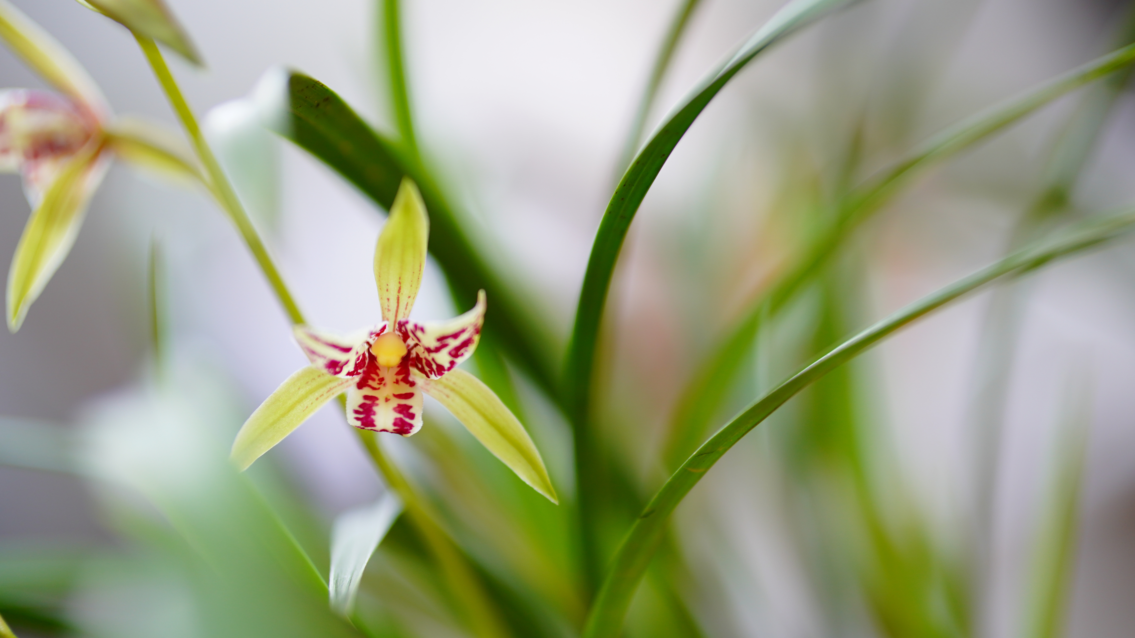
[[[378,443],[378,436],[375,433],[363,432],[358,428],[355,429],[355,434],[367,449],[375,466],[382,473],[386,484],[402,499],[406,514],[414,527],[421,533],[426,545],[437,560],[438,567],[445,575],[449,594],[461,606],[473,635],[480,638],[507,636],[508,632],[505,630],[504,623],[495,613],[477,575],[470,569],[469,562],[445,530],[442,529],[442,526],[437,524],[436,518],[430,513],[427,504],[418,496],[410,482],[406,480],[406,477],[382,452],[382,448]]]

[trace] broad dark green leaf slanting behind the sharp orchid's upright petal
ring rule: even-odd
[[[338,95],[323,84],[293,73],[287,83],[287,117],[276,130],[339,172],[380,207],[389,210],[402,178],[421,190],[430,215],[429,249],[445,271],[457,307],[472,306],[486,290],[493,308],[485,323],[497,342],[550,397],[557,398],[550,337],[532,318],[531,300],[505,286],[481,258],[429,176],[402,158],[395,145],[375,133]]]

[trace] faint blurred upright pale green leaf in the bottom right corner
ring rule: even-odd
[[[1057,434],[1052,475],[1044,494],[1040,531],[1033,546],[1025,638],[1066,635],[1068,595],[1076,575],[1081,492],[1091,423],[1091,392],[1085,375],[1069,376],[1069,403]]]

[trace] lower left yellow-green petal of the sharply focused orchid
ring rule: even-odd
[[[247,469],[252,461],[292,434],[293,429],[350,384],[351,380],[333,376],[314,366],[300,369],[287,377],[244,422],[236,433],[229,458],[242,471]]]

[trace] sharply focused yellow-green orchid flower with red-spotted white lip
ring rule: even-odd
[[[426,205],[413,181],[403,179],[375,247],[382,322],[350,335],[308,325],[294,327],[311,365],[280,384],[237,433],[233,460],[242,470],[343,392],[351,425],[410,436],[422,426],[426,393],[522,480],[556,501],[540,453],[523,426],[493,390],[457,368],[480,340],[485,291],[459,317],[409,318],[421,286],[428,239]]]

